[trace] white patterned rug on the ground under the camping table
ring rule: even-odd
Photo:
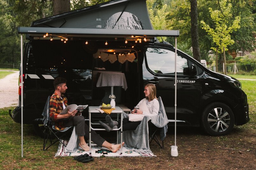
[[[65,145],[68,144],[67,140],[62,140],[62,141]],[[135,156],[153,157],[153,156],[155,156],[153,153],[152,154],[150,154],[150,153],[137,153],[137,152],[134,152],[134,151],[130,151],[130,150],[126,149],[125,147],[123,147],[123,154],[121,154],[120,150],[118,150],[116,153],[112,153],[109,149],[107,149],[105,147],[97,146],[94,143],[92,143],[91,146],[92,146],[92,154],[90,156],[93,156],[93,157],[100,157],[100,156],[109,156],[109,157],[123,157],[123,156],[126,156],[126,157],[135,157]],[[55,157],[56,156],[78,156],[78,155],[85,154],[85,153],[89,154],[89,151],[84,151],[84,150],[78,149],[73,153],[65,153],[64,146],[62,145],[62,143],[60,143],[58,151],[55,154]]]

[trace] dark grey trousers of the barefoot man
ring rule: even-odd
[[[85,136],[89,139],[89,126],[85,124],[83,116],[73,116],[67,120],[63,120],[64,127],[75,126],[77,136]],[[102,146],[105,139],[98,135],[94,130],[91,130],[91,140],[98,146]]]

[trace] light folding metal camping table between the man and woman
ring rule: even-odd
[[[92,153],[92,151],[91,151],[91,129],[95,130],[95,131],[105,130],[105,129],[94,129],[91,127],[91,125],[99,125],[99,123],[91,123],[91,113],[100,113],[100,111],[96,110],[96,109],[100,109],[100,107],[99,106],[89,106],[89,147],[90,147],[89,154],[90,155]],[[118,130],[121,129],[120,145],[121,145],[121,154],[122,154],[123,153],[123,147],[122,147],[122,143],[123,143],[123,109],[121,109],[120,107],[116,107],[116,109],[111,112],[111,114],[113,114],[113,113],[114,114],[121,113],[121,127],[119,127],[118,129],[112,129],[112,130],[117,131],[117,144],[118,144]],[[117,120],[118,120],[118,115],[117,115]]]

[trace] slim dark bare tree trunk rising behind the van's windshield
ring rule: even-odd
[[[191,40],[193,57],[201,63],[201,56],[198,42],[198,27],[197,27],[197,2],[196,0],[190,0],[190,17],[191,17]]]

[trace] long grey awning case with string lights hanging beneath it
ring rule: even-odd
[[[32,37],[42,37],[48,33],[55,37],[178,37],[179,30],[121,30],[121,29],[91,29],[91,28],[47,28],[18,27],[19,34],[29,34]]]

